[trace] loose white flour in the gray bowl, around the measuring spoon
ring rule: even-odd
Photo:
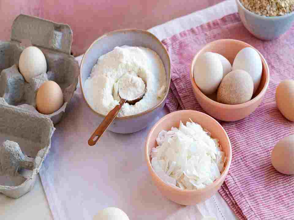
[[[119,85],[119,79],[126,74],[140,77],[146,84],[146,93],[135,105],[125,103],[119,117],[144,112],[162,100],[166,90],[166,74],[157,53],[144,47],[115,47],[98,58],[90,77],[85,81],[85,97],[94,110],[107,115],[119,104],[119,86],[124,85],[123,82]],[[130,94],[135,96],[140,85],[131,86],[130,90],[134,91],[130,91]]]

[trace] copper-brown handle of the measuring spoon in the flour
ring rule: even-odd
[[[94,131],[92,134],[91,138],[88,141],[88,144],[90,146],[93,146],[96,144],[97,141],[101,138],[101,136],[104,134],[106,129],[109,127],[111,122],[115,119],[117,114],[119,113],[119,110],[122,108],[123,104],[126,103],[126,99],[121,99],[119,102],[119,105],[115,106],[108,114],[107,116],[103,119],[99,127]]]

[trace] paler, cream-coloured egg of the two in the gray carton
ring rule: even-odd
[[[47,72],[47,63],[43,52],[35,46],[29,46],[22,51],[18,62],[19,71],[30,82],[32,77]]]

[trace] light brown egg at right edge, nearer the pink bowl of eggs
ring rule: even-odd
[[[280,82],[276,89],[276,103],[282,115],[294,122],[294,80]]]

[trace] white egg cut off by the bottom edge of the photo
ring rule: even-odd
[[[108,207],[100,210],[93,220],[130,220],[129,217],[119,208]]]

